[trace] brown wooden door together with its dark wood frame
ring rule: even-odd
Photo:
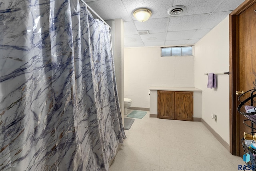
[[[244,155],[241,138],[251,129],[236,111],[235,91],[253,89],[256,76],[256,0],[246,0],[230,14],[230,152]],[[244,96],[243,98],[246,98]]]

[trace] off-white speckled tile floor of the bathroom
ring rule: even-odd
[[[237,171],[244,165],[201,122],[157,119],[148,112],[125,133],[110,171]]]

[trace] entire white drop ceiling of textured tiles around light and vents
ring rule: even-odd
[[[177,46],[195,44],[244,0],[85,0],[103,19],[124,20],[124,47]],[[170,16],[172,6],[186,6],[185,12]],[[152,16],[138,22],[133,11],[148,8]],[[149,34],[139,34],[148,31]]]

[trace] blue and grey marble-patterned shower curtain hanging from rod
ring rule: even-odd
[[[0,170],[108,170],[126,138],[108,26],[78,0],[8,0],[0,30]]]

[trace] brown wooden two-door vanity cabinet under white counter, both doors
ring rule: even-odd
[[[157,117],[193,121],[193,91],[158,91]]]

